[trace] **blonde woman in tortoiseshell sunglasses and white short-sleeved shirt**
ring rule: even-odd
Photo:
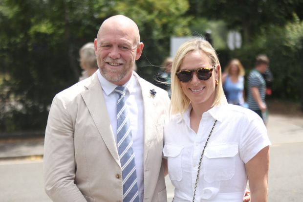
[[[163,156],[173,202],[267,202],[269,145],[260,116],[228,104],[216,51],[196,38],[173,59]]]

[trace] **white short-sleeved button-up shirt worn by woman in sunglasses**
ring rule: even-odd
[[[196,202],[242,202],[247,184],[245,163],[270,145],[266,127],[251,110],[223,103],[203,113],[197,134],[190,127],[189,109],[167,119],[163,155],[168,159],[174,202],[191,202],[199,159],[202,159]]]

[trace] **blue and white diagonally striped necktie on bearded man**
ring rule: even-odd
[[[135,155],[128,110],[125,104],[126,88],[118,86],[114,91],[119,94],[117,102],[117,148],[122,167],[123,202],[139,202]]]

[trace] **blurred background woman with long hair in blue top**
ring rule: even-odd
[[[244,74],[244,68],[238,59],[231,60],[225,67],[222,82],[228,103],[244,106]]]

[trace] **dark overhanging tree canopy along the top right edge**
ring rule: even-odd
[[[302,18],[302,8],[303,0],[190,0],[189,14],[223,20],[248,43],[269,24],[282,26],[293,13]]]

